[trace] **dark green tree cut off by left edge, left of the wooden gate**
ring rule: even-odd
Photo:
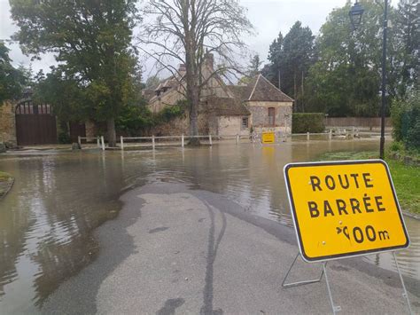
[[[26,77],[19,69],[12,66],[9,49],[0,42],[0,106],[7,99],[19,98]]]

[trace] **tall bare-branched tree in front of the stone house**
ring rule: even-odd
[[[241,35],[250,32],[251,22],[237,0],[150,0],[144,8],[150,22],[140,35],[147,53],[175,77],[183,77],[189,102],[190,134],[198,135],[198,103],[201,91],[216,74],[235,70],[235,53],[245,48]],[[210,54],[222,62],[210,75],[203,75]],[[171,61],[185,65],[180,75]],[[199,144],[191,138],[191,144]]]

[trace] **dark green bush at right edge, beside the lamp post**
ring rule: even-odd
[[[393,138],[407,149],[420,150],[420,91],[406,100],[397,101],[391,109]]]

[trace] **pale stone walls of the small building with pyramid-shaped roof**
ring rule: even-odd
[[[247,102],[246,106],[252,114],[253,130],[270,128],[276,131],[292,130],[292,102]],[[275,125],[268,125],[268,108],[275,108]],[[285,117],[284,115],[288,115]]]

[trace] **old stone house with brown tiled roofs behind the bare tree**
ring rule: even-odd
[[[153,113],[165,106],[173,106],[184,99],[185,67],[180,65],[178,75],[168,77],[152,89],[144,91],[144,97]],[[250,135],[254,130],[292,131],[293,99],[280,91],[264,76],[256,75],[246,85],[227,85],[219,75],[214,75],[213,56],[207,56],[202,70],[208,79],[201,92],[198,108],[198,130],[218,136]],[[188,117],[184,123],[162,131],[167,134],[188,134]]]

